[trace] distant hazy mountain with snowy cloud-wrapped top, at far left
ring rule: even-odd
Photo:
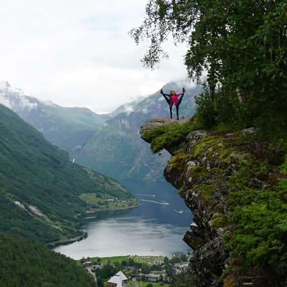
[[[71,158],[110,119],[109,115],[98,115],[87,108],[61,107],[39,101],[13,89],[8,82],[0,83],[0,103],[41,131],[53,144],[69,152]]]

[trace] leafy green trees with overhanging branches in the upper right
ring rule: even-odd
[[[287,109],[286,13],[285,0],[149,0],[143,25],[130,34],[137,44],[150,39],[147,67],[167,56],[161,44],[170,34],[188,44],[189,76],[200,81],[207,70],[209,99],[199,103],[201,113],[212,111],[204,112],[209,124],[227,118],[262,126],[282,123]]]

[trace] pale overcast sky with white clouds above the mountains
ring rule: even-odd
[[[185,47],[166,44],[170,59],[150,71],[128,32],[141,25],[146,0],[4,0],[0,80],[62,106],[111,112],[187,76]]]

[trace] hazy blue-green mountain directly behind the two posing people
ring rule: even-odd
[[[183,85],[187,83],[169,83],[164,92],[168,93],[171,89],[180,92]],[[194,96],[200,91],[200,86],[186,89],[180,116],[194,115]],[[169,153],[163,151],[160,157],[152,155],[139,134],[142,123],[153,117],[169,117],[169,106],[159,92],[107,121],[87,142],[76,161],[116,179],[163,180],[162,170]]]

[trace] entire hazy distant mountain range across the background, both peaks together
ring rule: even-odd
[[[186,93],[179,114],[190,117],[195,113],[194,96],[200,93],[201,86],[181,81],[168,83],[163,89],[165,93],[180,92],[183,86]],[[159,91],[123,104],[110,114],[99,115],[87,108],[40,101],[2,82],[0,103],[67,151],[77,163],[118,180],[163,180],[162,170],[169,153],[152,155],[139,135],[146,120],[169,117],[169,106]]]

